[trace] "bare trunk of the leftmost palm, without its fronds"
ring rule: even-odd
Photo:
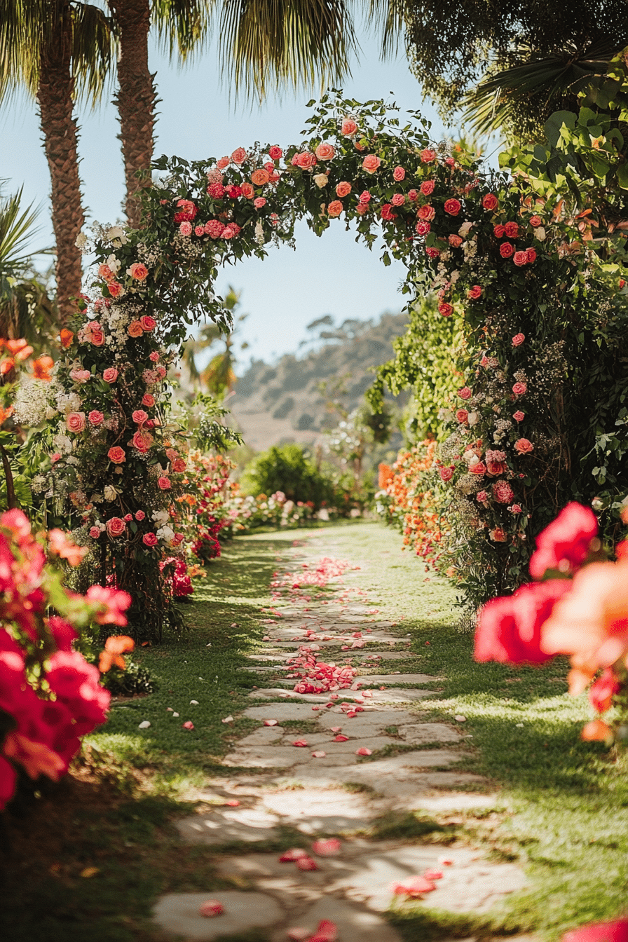
[[[72,22],[64,3],[50,41],[40,51],[37,98],[44,150],[52,182],[52,219],[56,240],[56,300],[65,322],[74,313],[72,297],[81,290],[81,253],[76,236],[85,222],[78,175],[77,131],[72,117]]]

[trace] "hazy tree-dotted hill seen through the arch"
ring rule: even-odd
[[[373,382],[371,367],[391,358],[392,341],[407,323],[406,314],[384,314],[377,322],[349,319],[336,327],[328,315],[309,325],[311,339],[300,353],[285,354],[276,365],[251,361],[229,400],[247,445],[264,450],[283,442],[316,442],[337,421],[326,410],[320,383],[346,378],[346,404],[359,406]]]

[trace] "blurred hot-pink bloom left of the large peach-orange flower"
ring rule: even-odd
[[[497,533],[497,529],[493,531],[497,536],[506,535],[503,530]],[[510,664],[542,664],[550,660],[552,656],[540,650],[540,629],[556,601],[570,587],[568,579],[532,582],[514,595],[487,602],[477,620],[475,660]]]

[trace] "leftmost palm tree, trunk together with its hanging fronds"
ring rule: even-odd
[[[78,173],[76,90],[96,102],[112,54],[103,11],[78,0],[4,0],[0,16],[0,102],[18,89],[36,98],[52,183],[59,316],[73,313],[81,289],[75,246],[85,216]]]

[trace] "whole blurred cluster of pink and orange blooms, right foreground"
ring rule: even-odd
[[[595,514],[568,504],[537,537],[530,559],[537,581],[481,609],[475,658],[541,664],[567,655],[572,695],[590,684],[591,705],[600,714],[609,710],[628,672],[628,544],[616,547],[616,561],[599,560],[600,550]],[[582,731],[583,739],[612,735],[600,719]]]

